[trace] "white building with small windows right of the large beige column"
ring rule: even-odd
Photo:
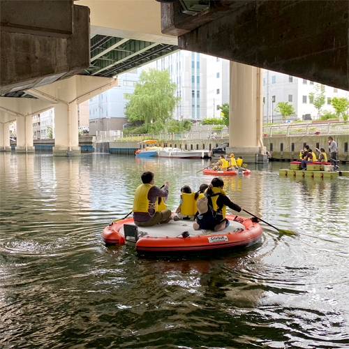
[[[263,71],[263,123],[282,122],[281,114],[275,112],[279,102],[288,102],[295,108],[295,116],[289,120],[318,119],[318,110],[314,107],[309,94],[315,93],[317,82],[302,79],[292,75]],[[322,110],[334,112],[331,100],[334,97],[349,97],[348,91],[321,85],[325,91],[326,102]]]

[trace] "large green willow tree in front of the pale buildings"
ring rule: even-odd
[[[163,124],[172,118],[174,107],[181,99],[174,96],[176,89],[168,70],[143,70],[126,104],[128,121],[143,121],[149,132],[163,131]]]

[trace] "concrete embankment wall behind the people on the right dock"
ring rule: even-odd
[[[299,151],[307,144],[313,151],[315,148],[324,148],[328,154],[327,135],[304,135],[292,137],[263,137],[263,143],[272,154],[272,160],[296,160],[299,158]],[[338,158],[340,161],[349,161],[348,142],[349,135],[334,135],[338,146]]]

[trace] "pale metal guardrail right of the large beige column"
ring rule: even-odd
[[[285,124],[263,126],[263,136],[343,135],[349,134],[349,121],[319,122],[311,124]]]

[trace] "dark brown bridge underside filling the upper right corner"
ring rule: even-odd
[[[349,90],[347,0],[157,1],[180,49]]]

